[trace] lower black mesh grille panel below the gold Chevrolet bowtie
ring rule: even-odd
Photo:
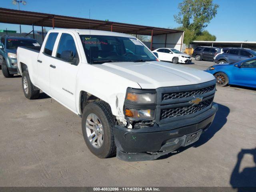
[[[200,102],[198,105],[162,109],[160,114],[160,120],[196,113],[210,106],[212,104],[212,101],[213,101],[213,97],[208,100],[204,100],[203,102]]]

